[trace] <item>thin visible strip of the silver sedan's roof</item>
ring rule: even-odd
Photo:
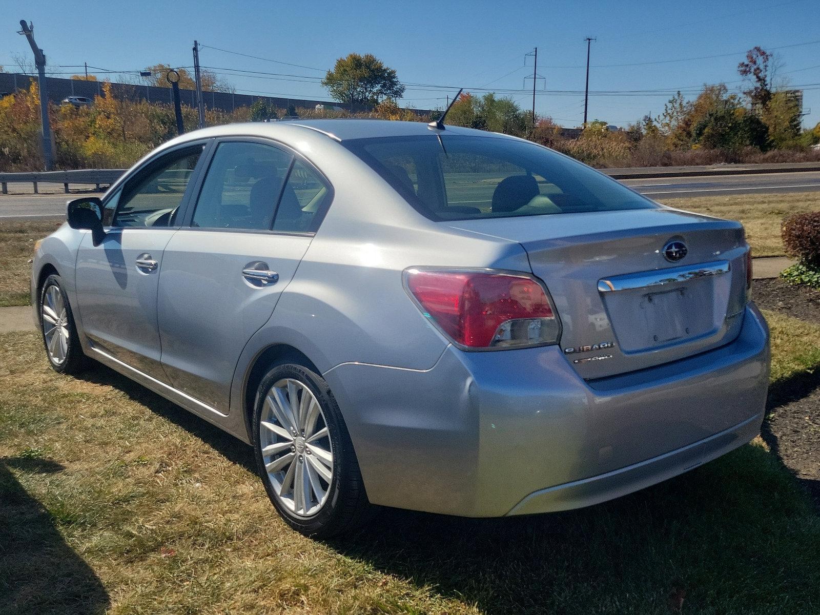
[[[276,138],[285,132],[293,134],[293,128],[311,130],[326,134],[335,141],[348,141],[353,139],[376,139],[378,137],[403,137],[413,135],[430,135],[437,131],[431,130],[430,126],[423,121],[393,121],[393,120],[370,120],[370,119],[339,119],[339,120],[288,120],[270,122],[244,122],[237,124],[223,124],[209,126],[203,130],[194,130],[185,134],[185,140],[197,137],[222,137],[237,134],[267,134]],[[507,135],[488,133],[485,130],[475,130],[472,128],[462,128],[461,126],[447,126],[447,134],[462,134],[475,136],[504,137]],[[513,139],[512,137],[507,137]]]

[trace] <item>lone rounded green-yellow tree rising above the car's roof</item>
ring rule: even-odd
[[[400,98],[404,93],[396,71],[371,53],[340,57],[321,84],[340,103],[377,105],[385,98]]]

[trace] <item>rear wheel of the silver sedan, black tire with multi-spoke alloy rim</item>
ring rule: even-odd
[[[262,378],[253,449],[268,497],[294,530],[324,539],[355,531],[371,517],[374,508],[339,405],[311,368],[280,362]]]

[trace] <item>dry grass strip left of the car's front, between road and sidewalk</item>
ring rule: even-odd
[[[30,258],[34,242],[52,233],[61,222],[0,221],[0,307],[28,305]]]

